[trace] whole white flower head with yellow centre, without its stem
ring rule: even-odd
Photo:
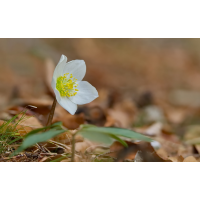
[[[67,57],[62,55],[55,68],[51,86],[58,103],[74,115],[77,104],[90,103],[99,95],[95,87],[87,81],[82,81],[86,73],[85,62],[83,60],[66,62]]]

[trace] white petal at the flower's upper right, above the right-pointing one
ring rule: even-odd
[[[81,81],[86,73],[86,65],[84,60],[72,60],[68,62],[64,69],[63,74],[72,74],[78,81]]]

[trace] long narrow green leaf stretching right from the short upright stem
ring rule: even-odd
[[[92,133],[104,133],[104,134],[113,134],[115,136],[123,136],[135,140],[142,140],[146,142],[152,142],[153,140],[149,137],[146,137],[140,133],[137,133],[135,131],[131,131],[128,129],[122,129],[122,128],[111,128],[111,127],[96,127],[96,126],[85,126],[82,125],[82,129],[80,132],[86,131],[86,132],[92,132]]]

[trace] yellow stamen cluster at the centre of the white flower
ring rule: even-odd
[[[69,73],[64,74],[64,76],[60,76],[57,78],[56,89],[60,92],[61,97],[72,97],[77,94],[78,89],[76,87],[78,84],[76,83],[77,79],[69,75]]]

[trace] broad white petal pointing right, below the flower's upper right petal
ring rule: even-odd
[[[69,99],[75,104],[82,105],[90,103],[99,96],[96,88],[87,81],[80,81],[77,83],[77,89],[79,91],[77,91],[77,94],[75,96],[69,97]]]

